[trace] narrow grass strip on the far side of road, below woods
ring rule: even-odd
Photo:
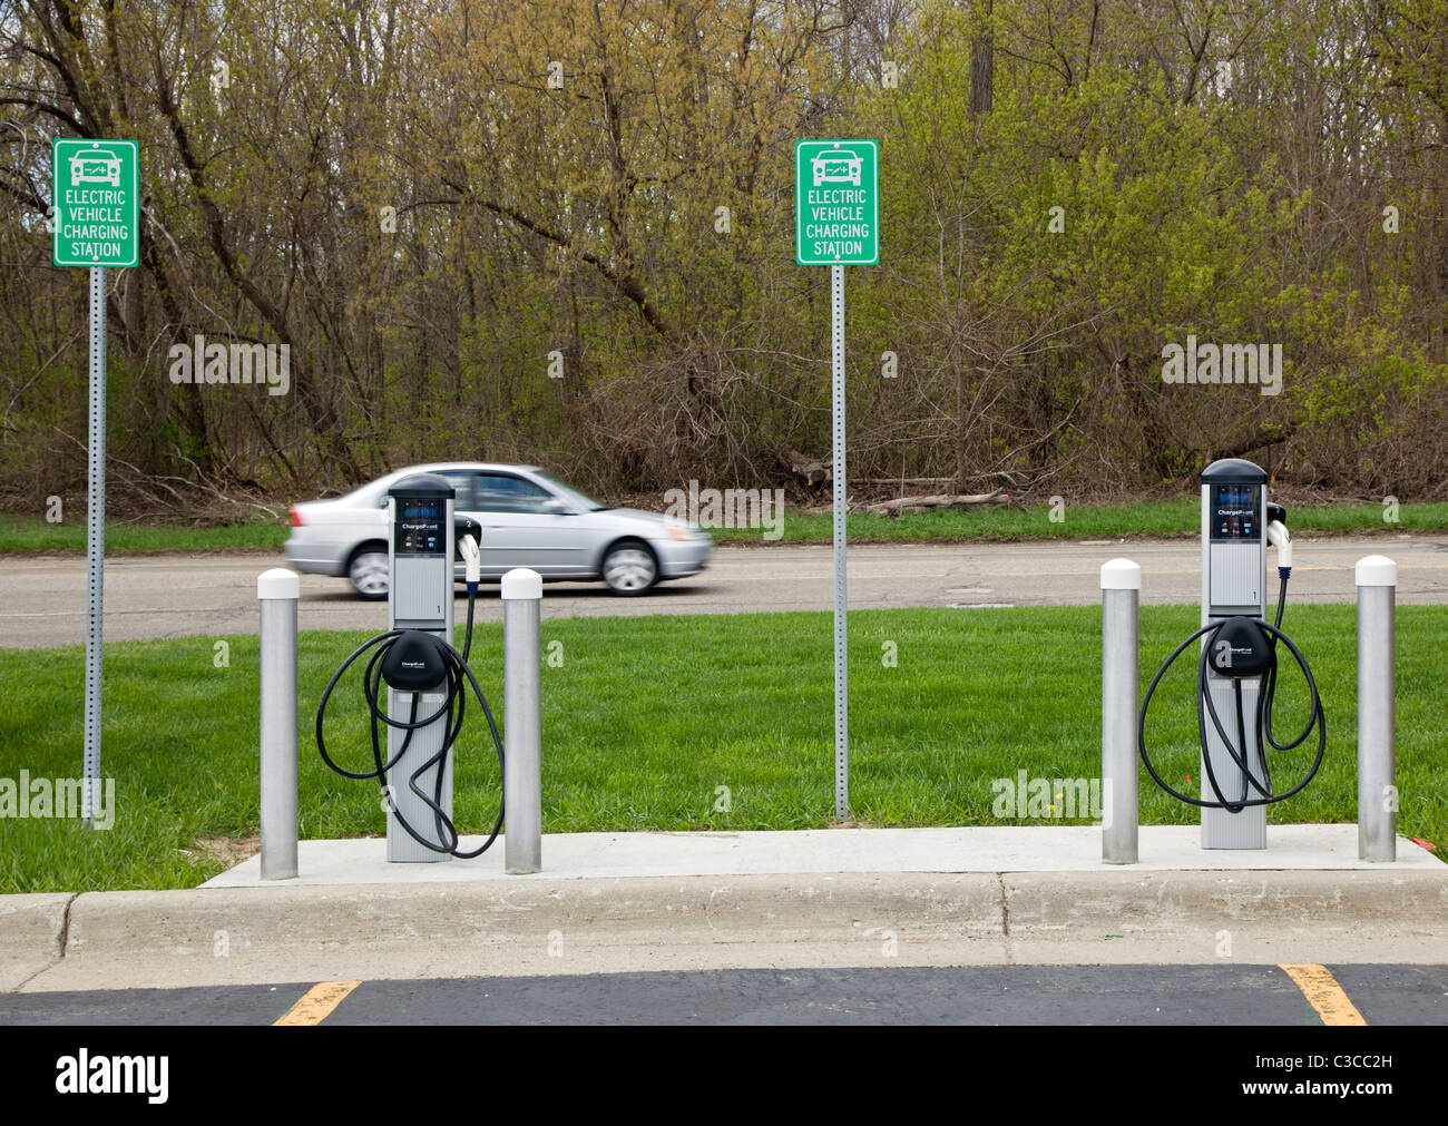
[[[1067,505],[1063,520],[1051,520],[1045,504],[1024,508],[980,508],[934,511],[898,518],[857,512],[846,528],[853,543],[950,543],[960,540],[1109,540],[1122,536],[1195,536],[1200,522],[1196,498],[1144,501],[1135,505]],[[1383,520],[1383,507],[1323,505],[1289,509],[1287,522],[1296,531],[1381,533],[1445,531],[1448,504],[1402,505],[1399,520]],[[762,528],[710,528],[721,543],[770,543]],[[110,524],[106,550],[116,554],[156,551],[272,551],[285,541],[281,521],[252,520],[190,528],[167,524]],[[802,515],[786,509],[779,543],[830,543],[828,512]],[[84,551],[85,520],[78,514],[65,524],[46,524],[41,517],[0,515],[0,554],[35,551]]]

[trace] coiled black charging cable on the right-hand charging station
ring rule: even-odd
[[[1302,656],[1292,638],[1281,631],[1281,614],[1287,602],[1287,577],[1292,575],[1292,567],[1277,567],[1277,573],[1281,577],[1281,586],[1277,592],[1277,618],[1268,625],[1264,621],[1257,621],[1255,618],[1226,618],[1219,622],[1211,622],[1203,625],[1195,634],[1192,634],[1186,641],[1176,647],[1170,657],[1163,661],[1161,667],[1157,669],[1157,674],[1151,677],[1151,685],[1147,687],[1147,695],[1141,700],[1141,714],[1137,721],[1137,747],[1141,751],[1141,763],[1147,767],[1147,773],[1163,790],[1170,793],[1179,802],[1186,802],[1187,805],[1200,806],[1203,809],[1225,809],[1229,813],[1239,813],[1247,806],[1258,805],[1273,805],[1274,802],[1283,802],[1292,797],[1295,793],[1300,792],[1313,776],[1318,773],[1318,767],[1322,766],[1322,753],[1328,745],[1328,719],[1322,712],[1322,698],[1318,695],[1318,682],[1312,677],[1312,669],[1308,666],[1308,659]],[[1255,732],[1257,732],[1257,766],[1255,769],[1250,763],[1250,755],[1247,753],[1247,718],[1242,715],[1242,682],[1239,677],[1232,679],[1232,692],[1237,700],[1237,737],[1235,742],[1232,735],[1226,732],[1222,725],[1222,716],[1216,711],[1216,702],[1212,699],[1212,692],[1208,683],[1209,659],[1213,647],[1226,627],[1250,622],[1250,627],[1255,627],[1266,635],[1267,648],[1270,651],[1270,660],[1266,670],[1261,673],[1263,686],[1257,696],[1257,709],[1254,715]],[[1179,790],[1169,786],[1161,776],[1157,773],[1156,767],[1151,764],[1151,755],[1147,754],[1147,709],[1151,706],[1151,696],[1157,690],[1157,685],[1161,677],[1166,676],[1167,669],[1171,667],[1173,661],[1180,657],[1186,648],[1197,638],[1205,637],[1206,641],[1202,645],[1202,657],[1197,661],[1196,670],[1196,727],[1197,737],[1200,738],[1200,745],[1203,751],[1206,750],[1206,721],[1211,718],[1212,727],[1222,740],[1222,747],[1225,748],[1228,757],[1242,773],[1241,793],[1235,799],[1229,799],[1222,793],[1222,786],[1216,779],[1216,771],[1212,770],[1212,755],[1209,753],[1202,754],[1202,766],[1206,769],[1206,780],[1212,787],[1212,793],[1216,795],[1215,802],[1208,802],[1200,797],[1189,797]],[[1297,667],[1302,669],[1302,676],[1308,682],[1308,698],[1310,708],[1308,712],[1308,725],[1302,729],[1302,734],[1289,742],[1279,742],[1271,729],[1271,708],[1273,699],[1277,695],[1277,643],[1287,647],[1293,659],[1297,661]],[[1231,643],[1228,643],[1231,644]],[[1290,751],[1300,747],[1312,729],[1318,729],[1318,754],[1312,760],[1312,769],[1308,770],[1306,777],[1302,779],[1290,790],[1283,790],[1277,793],[1271,786],[1271,771],[1267,767],[1267,747],[1270,745],[1274,751]],[[1238,750],[1241,748],[1241,750]],[[1260,771],[1260,773],[1258,773]],[[1260,796],[1250,796],[1255,790]]]

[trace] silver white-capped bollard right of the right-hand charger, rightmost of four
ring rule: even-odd
[[[1358,860],[1397,860],[1397,563],[1360,559]]]

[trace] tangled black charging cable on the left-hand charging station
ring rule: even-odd
[[[388,630],[387,632],[378,634],[376,637],[363,641],[358,645],[352,656],[342,661],[342,666],[332,674],[332,680],[327,682],[327,687],[321,693],[321,702],[317,705],[317,750],[321,753],[321,761],[324,761],[332,770],[345,779],[378,779],[382,786],[382,793],[387,796],[390,808],[397,815],[397,824],[401,825],[408,837],[417,841],[424,848],[433,852],[443,852],[446,855],[458,857],[459,860],[471,860],[472,857],[479,857],[488,851],[494,841],[498,839],[498,832],[502,829],[502,800],[498,800],[498,819],[492,824],[492,832],[488,839],[482,842],[479,848],[471,852],[459,851],[459,835],[458,828],[453,825],[450,816],[447,816],[443,809],[443,776],[447,755],[452,754],[453,744],[462,734],[463,721],[466,718],[466,703],[468,703],[468,687],[472,687],[473,696],[478,698],[478,703],[482,705],[482,714],[488,719],[488,729],[492,732],[492,745],[498,751],[498,776],[502,776],[502,738],[498,735],[498,725],[492,719],[492,709],[488,708],[488,698],[482,695],[482,689],[478,686],[478,679],[472,674],[472,669],[468,667],[468,654],[472,651],[472,617],[473,617],[473,602],[478,596],[478,583],[468,583],[468,631],[465,634],[462,653],[453,648],[449,640],[440,638],[436,634],[429,634],[421,630]],[[424,687],[413,690],[413,702],[408,711],[407,719],[392,719],[387,714],[387,700],[382,693],[384,682],[384,667],[387,666],[388,656],[394,654],[401,645],[416,645],[421,647],[426,656],[434,657],[437,670],[442,673],[440,679],[434,682],[432,687]],[[362,673],[362,695],[366,698],[368,712],[371,715],[372,728],[372,770],[353,771],[337,766],[332,755],[327,754],[327,744],[321,734],[323,718],[327,712],[327,700],[332,699],[332,690],[337,686],[343,673],[356,663],[363,653],[372,650],[372,656],[366,663],[366,670]],[[423,692],[433,692],[439,686],[443,687],[443,702],[439,705],[437,711],[421,719],[417,718],[418,702],[421,700]],[[388,773],[397,767],[407,754],[408,745],[413,741],[413,732],[429,727],[446,716],[443,724],[443,740],[440,750],[433,754],[427,761],[417,767],[407,779],[407,787],[417,795],[423,803],[433,812],[433,822],[437,831],[437,839],[443,844],[437,844],[433,839],[423,837],[403,812],[397,808],[397,802],[392,800],[391,790],[387,784]],[[403,737],[403,745],[398,747],[397,754],[384,761],[382,754],[382,738],[379,724],[387,727],[405,731]],[[436,767],[436,783],[433,792],[429,795],[418,786],[418,780],[429,770]]]

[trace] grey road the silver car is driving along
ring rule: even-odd
[[[1397,560],[1399,602],[1448,602],[1448,536],[1407,534],[1299,540],[1292,598],[1351,601],[1352,564],[1367,554]],[[1087,605],[1100,599],[1100,564],[1116,556],[1141,564],[1142,602],[1197,599],[1195,538],[862,544],[849,554],[850,606]],[[104,637],[255,632],[256,576],[281,563],[279,554],[116,556],[106,563]],[[704,575],[644,598],[617,598],[598,583],[550,583],[543,601],[546,617],[822,611],[833,605],[830,547],[723,546]],[[501,617],[497,586],[482,588],[478,615]],[[80,644],[84,624],[84,557],[0,564],[0,647]],[[384,630],[387,605],[353,598],[343,579],[303,576],[300,627]]]

